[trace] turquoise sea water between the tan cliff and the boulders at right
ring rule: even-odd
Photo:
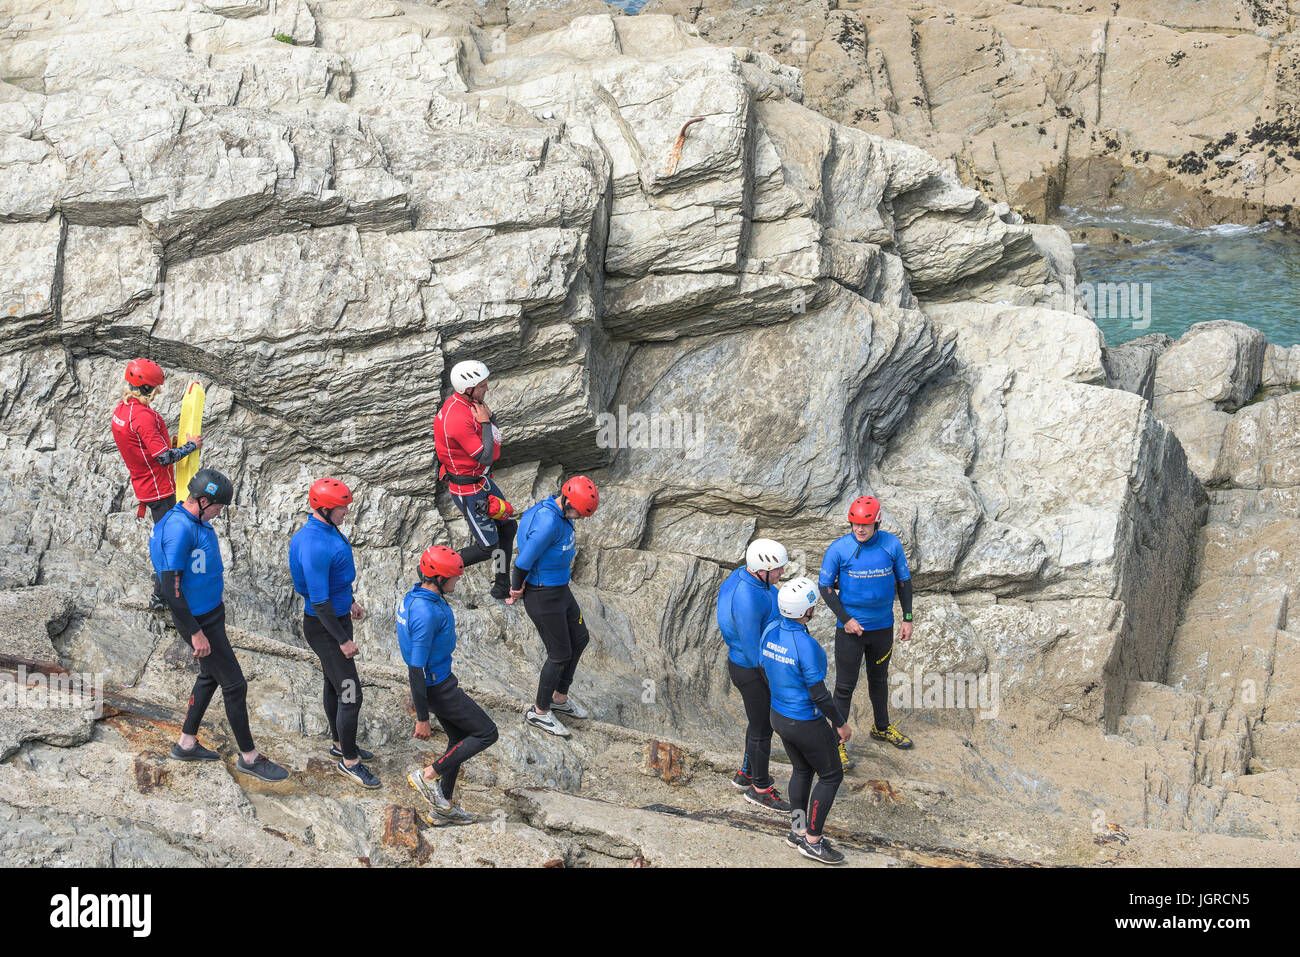
[[[1252,325],[1279,346],[1300,343],[1300,237],[1271,225],[1191,229],[1119,209],[1061,213],[1067,229],[1109,228],[1134,239],[1074,247],[1108,345],[1149,333],[1178,338],[1212,319]]]

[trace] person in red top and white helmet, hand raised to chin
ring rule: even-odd
[[[488,367],[473,359],[456,363],[451,369],[451,389],[433,421],[438,477],[447,480],[451,499],[473,537],[458,553],[460,560],[468,568],[493,559],[491,596],[504,601],[510,597],[510,559],[517,523],[491,477],[491,464],[500,458],[500,429],[484,402]]]

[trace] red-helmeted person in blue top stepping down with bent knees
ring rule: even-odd
[[[497,724],[464,693],[451,674],[456,650],[456,616],[447,596],[456,589],[465,563],[446,545],[433,545],[420,555],[420,581],[398,607],[398,648],[407,663],[411,701],[415,705],[415,736],[432,736],[429,714],[447,732],[447,749],[425,768],[407,775],[433,813],[454,824],[472,824],[477,817],[452,800],[456,774],[469,758],[497,741]],[[433,819],[429,818],[429,823]]]

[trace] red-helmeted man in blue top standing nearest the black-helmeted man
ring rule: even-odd
[[[289,572],[303,597],[303,637],[325,672],[325,719],[338,758],[334,768],[363,788],[378,788],[380,779],[363,765],[374,755],[356,744],[361,718],[361,679],[356,674],[352,622],[365,609],[352,601],[356,564],[352,544],[339,529],[352,505],[352,490],[337,478],[320,478],[307,490],[307,524],[289,540]]]

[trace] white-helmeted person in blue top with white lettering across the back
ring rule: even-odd
[[[763,627],[759,661],[772,694],[770,720],[794,766],[785,843],[820,863],[842,863],[844,854],[822,830],[844,780],[837,746],[853,732],[826,688],[826,651],[809,633],[816,602],[812,579],[800,576],[781,585],[780,618]]]

